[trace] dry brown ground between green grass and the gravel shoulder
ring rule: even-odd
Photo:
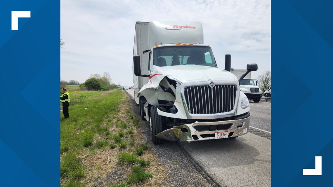
[[[78,153],[78,156],[86,166],[85,177],[81,179],[80,182],[84,183],[87,187],[106,187],[126,182],[133,173],[131,166],[139,165],[139,163],[121,165],[117,162],[117,156],[122,152],[136,154],[136,149],[144,144],[142,139],[143,132],[138,128],[142,125],[142,122],[139,120],[140,122],[138,124],[138,118],[133,115],[134,111],[129,103],[128,95],[124,92],[122,92],[122,94],[124,94],[124,97],[119,100],[119,109],[110,114],[109,118],[102,122],[102,127],[110,126],[108,132],[105,132],[105,134],[108,135],[100,134],[93,138],[93,146],[96,146],[96,142],[101,140],[107,140],[108,146],[102,148],[86,148],[84,151]],[[122,123],[126,123],[126,125]],[[114,136],[120,137],[120,135],[122,135],[122,133],[118,133],[120,131],[124,132],[123,137],[121,137],[121,142],[123,142],[123,144],[126,142],[126,147],[123,148],[120,147],[119,142],[114,141]],[[110,148],[111,144],[116,145],[116,147]],[[165,186],[162,184],[162,181],[168,178],[166,174],[168,167],[158,162],[154,151],[148,147],[148,149],[144,149],[141,156],[138,156],[138,159],[144,159],[150,162],[148,166],[143,166],[142,168],[146,172],[152,173],[153,177],[149,178],[144,183],[134,183],[128,186]]]

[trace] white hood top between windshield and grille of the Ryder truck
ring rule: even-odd
[[[236,81],[237,77],[232,73],[210,66],[182,65],[153,67],[155,74],[167,76],[181,83],[203,82],[203,81]]]

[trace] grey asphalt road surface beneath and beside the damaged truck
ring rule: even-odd
[[[133,90],[127,90],[134,96]],[[167,142],[180,146],[210,185],[225,187],[271,186],[270,103],[250,101],[249,133],[237,138],[196,142]],[[147,122],[148,125],[148,122]],[[258,134],[258,135],[257,135]],[[159,147],[161,145],[155,145]],[[181,160],[181,158],[179,158]]]

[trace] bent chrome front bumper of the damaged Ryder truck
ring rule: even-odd
[[[240,126],[240,123],[244,123]],[[215,131],[228,131],[230,137],[241,136],[249,131],[250,117],[237,120],[216,121],[216,122],[194,122],[173,128],[157,134],[161,139],[169,141],[199,141],[215,139]],[[225,129],[227,128],[227,129]]]

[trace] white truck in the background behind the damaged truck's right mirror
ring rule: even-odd
[[[244,69],[233,69],[231,68],[231,73],[233,73],[238,79],[244,75],[247,70]],[[242,91],[248,99],[252,99],[253,102],[259,102],[262,97],[262,91],[259,89],[258,81],[251,79],[251,72],[248,73],[243,80],[240,81],[240,91]]]

